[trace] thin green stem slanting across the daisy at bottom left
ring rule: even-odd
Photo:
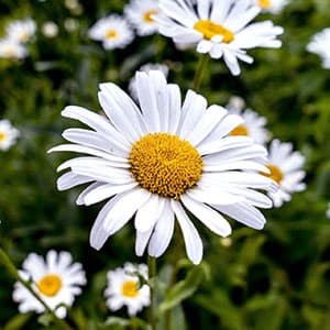
[[[53,316],[54,321],[58,324],[59,329],[63,330],[72,330],[72,327],[64,321],[63,319],[58,319],[54,311],[48,307],[48,305],[37,295],[37,293],[32,287],[31,283],[24,280],[14,264],[11,262],[8,254],[0,248],[0,263],[7,268],[8,273],[18,282],[20,282],[33,296],[34,298],[44,306],[45,310]]]

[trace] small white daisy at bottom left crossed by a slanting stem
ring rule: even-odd
[[[72,255],[64,251],[51,250],[46,260],[30,253],[19,274],[24,280],[32,280],[34,290],[58,318],[66,316],[66,307],[58,306],[72,306],[75,296],[81,293],[79,286],[86,284],[81,264],[73,263]],[[45,312],[44,306],[19,282],[14,285],[13,300],[20,304],[20,312]]]

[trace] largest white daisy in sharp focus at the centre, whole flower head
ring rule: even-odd
[[[174,232],[175,218],[193,263],[202,257],[201,239],[186,209],[211,231],[228,237],[223,215],[255,229],[265,223],[255,208],[272,201],[256,189],[277,188],[270,178],[246,169],[266,170],[266,150],[246,136],[227,136],[242,123],[219,106],[189,90],[182,106],[177,85],[167,85],[161,72],[136,73],[140,108],[114,84],[101,84],[99,101],[108,118],[80,107],[62,114],[92,130],[68,129],[73,144],[51,150],[88,156],[69,160],[58,170],[59,190],[89,183],[78,205],[111,198],[99,212],[90,244],[99,250],[107,239],[134,217],[135,252],[161,256]]]

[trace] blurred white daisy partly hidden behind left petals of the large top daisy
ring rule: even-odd
[[[157,0],[131,0],[124,8],[130,23],[136,29],[138,35],[150,35],[157,32],[157,22],[153,19],[158,13]]]

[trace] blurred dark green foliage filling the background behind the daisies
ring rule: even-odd
[[[122,13],[127,1],[80,0],[76,11],[67,3],[0,0],[0,35],[13,19],[31,16],[37,23],[30,57],[0,59],[0,117],[21,131],[18,143],[0,153],[0,244],[18,266],[30,252],[70,251],[84,264],[89,282],[70,312],[75,327],[117,329],[113,320],[100,326],[109,316],[127,316],[124,310],[111,314],[106,308],[106,272],[127,261],[145,262],[134,255],[133,227],[112,237],[101,252],[94,251],[88,235],[100,205],[77,207],[80,189],[58,193],[56,167],[69,155],[46,151],[63,142],[65,128],[77,125],[61,117],[66,105],[100,111],[99,82],[111,80],[127,88],[141,65],[165,63],[169,80],[186,91],[191,88],[197,54],[177,51],[160,35],[136,36],[124,50],[106,52],[88,38],[88,28],[109,13]],[[65,29],[67,19],[74,20],[76,30]],[[208,274],[191,284],[193,292],[185,292],[190,298],[177,305],[174,329],[330,329],[330,220],[326,218],[330,72],[321,67],[317,55],[306,52],[310,37],[330,25],[330,7],[327,0],[293,0],[280,14],[258,19],[272,19],[285,28],[283,47],[251,51],[255,63],[242,64],[239,77],[232,77],[221,61],[210,61],[201,94],[219,105],[232,95],[241,96],[265,116],[273,136],[293,142],[306,156],[308,188],[282,208],[264,211],[267,224],[261,232],[232,222],[232,237],[221,240],[199,228],[205,242],[202,267],[206,272],[209,265]],[[42,34],[46,21],[58,25],[57,36]],[[158,260],[165,283],[174,249],[172,243]],[[184,257],[183,246],[178,251]],[[177,267],[178,279],[185,278],[189,267]],[[1,270],[0,328],[37,329],[33,314],[18,315],[12,285]],[[118,327],[124,328],[124,322]]]

